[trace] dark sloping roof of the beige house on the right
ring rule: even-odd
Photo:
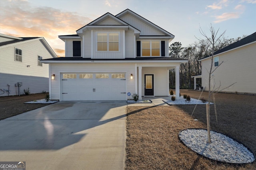
[[[244,37],[243,39],[240,39],[239,41],[236,41],[218,51],[216,51],[214,53],[214,55],[217,55],[217,54],[220,54],[220,53],[224,53],[224,52],[227,52],[227,51],[230,51],[230,50],[234,50],[234,49],[237,49],[239,47],[243,47],[244,45],[249,45],[250,43],[254,43],[256,42],[256,32],[251,34],[251,35],[248,35],[247,37]],[[204,57],[203,59],[201,60],[204,60],[204,59],[207,59],[209,58],[209,56],[206,56]],[[200,61],[201,61],[200,60]]]

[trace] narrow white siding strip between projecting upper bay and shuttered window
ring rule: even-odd
[[[135,58],[134,45],[134,32],[125,31],[125,58]]]

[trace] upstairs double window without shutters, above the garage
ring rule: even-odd
[[[118,32],[97,32],[97,51],[119,51]]]

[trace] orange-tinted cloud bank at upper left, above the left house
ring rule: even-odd
[[[44,37],[52,49],[60,49],[58,35],[75,34],[91,18],[50,7],[34,7],[27,1],[4,1],[0,6],[1,33],[16,37]],[[61,52],[57,50],[58,52]],[[57,55],[58,52],[56,52]]]

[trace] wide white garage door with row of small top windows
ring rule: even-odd
[[[125,73],[63,73],[63,101],[126,100]]]

